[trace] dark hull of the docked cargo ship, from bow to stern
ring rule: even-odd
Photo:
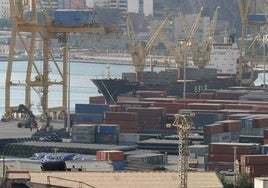
[[[144,85],[138,82],[131,82],[123,79],[92,79],[91,80],[102,93],[108,104],[117,102],[117,97],[129,93],[134,95],[138,90],[166,91],[169,96],[182,97],[184,93],[184,81],[174,83],[159,83],[154,85]],[[200,93],[206,89],[227,89],[238,86],[235,78],[217,78],[213,80],[185,81],[185,93]]]

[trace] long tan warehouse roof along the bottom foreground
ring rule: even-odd
[[[95,188],[177,188],[178,172],[30,172],[31,183]],[[188,188],[223,188],[214,172],[189,172]]]

